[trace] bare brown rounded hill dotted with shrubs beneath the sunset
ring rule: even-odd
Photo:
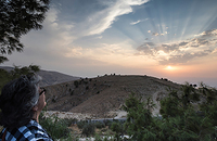
[[[108,113],[118,111],[132,92],[142,100],[151,97],[158,105],[158,100],[168,93],[166,89],[179,89],[180,85],[150,76],[105,75],[46,88],[49,111],[87,113],[94,117],[105,117]]]

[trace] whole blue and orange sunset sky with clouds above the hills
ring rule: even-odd
[[[1,66],[148,75],[217,88],[217,0],[52,0],[41,30]]]

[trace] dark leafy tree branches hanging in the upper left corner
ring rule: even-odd
[[[22,35],[41,29],[50,0],[0,0],[0,64],[8,61],[3,54],[23,51]]]

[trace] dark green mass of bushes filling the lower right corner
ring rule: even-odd
[[[163,118],[152,117],[153,103],[133,94],[126,100],[125,130],[133,141],[213,141],[217,138],[217,90],[187,84],[161,101]]]

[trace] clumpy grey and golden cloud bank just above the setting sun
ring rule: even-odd
[[[158,35],[157,35],[158,36]],[[157,60],[159,64],[182,64],[216,51],[217,29],[206,30],[195,38],[173,43],[144,42],[137,50]]]

